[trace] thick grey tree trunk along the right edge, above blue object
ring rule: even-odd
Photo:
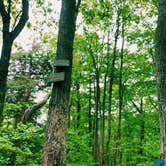
[[[156,68],[160,114],[160,158],[166,160],[166,0],[159,0]]]

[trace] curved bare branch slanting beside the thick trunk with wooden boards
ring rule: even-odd
[[[46,104],[46,102],[47,102],[47,100],[50,98],[50,96],[51,96],[51,94],[48,94],[48,95],[47,95],[46,97],[44,97],[44,99],[43,99],[42,101],[40,101],[39,103],[36,103],[36,104],[34,104],[34,105],[28,107],[28,108],[24,111],[24,114],[23,114],[21,120],[22,120],[24,123],[27,122],[36,110],[40,109],[41,107],[43,107],[43,106]]]

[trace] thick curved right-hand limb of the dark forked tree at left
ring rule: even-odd
[[[14,30],[11,32],[12,39],[14,40],[22,31],[24,28],[29,16],[28,16],[28,11],[29,11],[29,0],[22,0],[22,15],[20,17],[20,20]]]

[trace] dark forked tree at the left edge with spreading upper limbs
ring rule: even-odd
[[[0,1],[0,14],[2,16],[2,51],[0,58],[0,124],[3,120],[3,108],[6,95],[6,83],[9,68],[9,61],[11,57],[12,45],[16,37],[20,34],[28,20],[28,9],[29,1],[22,0],[21,16],[18,14],[15,16],[15,21],[11,25],[11,17],[13,2],[12,0],[7,1],[7,9],[5,7],[4,0]],[[20,17],[19,21],[18,18]],[[17,24],[16,24],[17,23]]]

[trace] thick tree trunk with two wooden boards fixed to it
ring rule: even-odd
[[[66,165],[66,128],[69,110],[71,85],[73,40],[76,18],[81,0],[62,0],[57,43],[58,60],[69,60],[69,67],[57,68],[57,72],[65,72],[65,80],[54,82],[46,129],[46,142],[43,153],[43,166]]]

